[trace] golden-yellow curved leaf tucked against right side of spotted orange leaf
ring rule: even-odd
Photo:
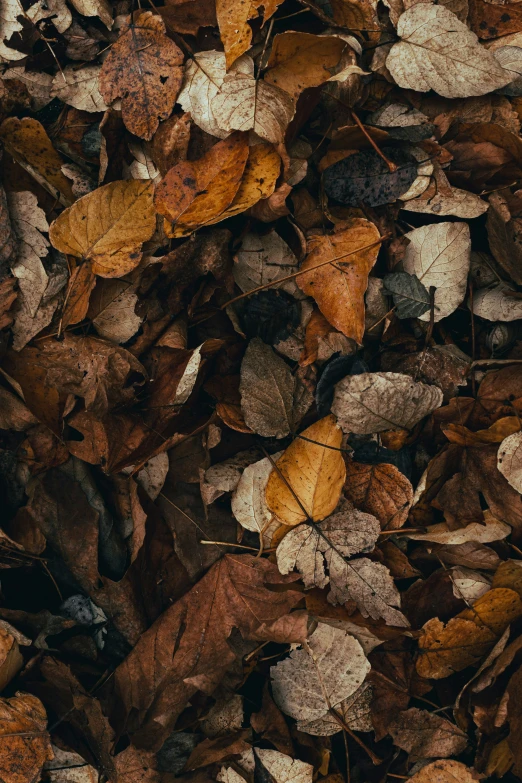
[[[260,199],[271,196],[280,170],[281,158],[271,144],[256,144],[250,147],[243,178],[234,200],[221,215],[210,220],[209,225],[239,215],[257,204]]]

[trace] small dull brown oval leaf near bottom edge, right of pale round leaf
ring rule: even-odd
[[[400,712],[392,720],[389,733],[412,761],[458,756],[468,744],[466,734],[454,723],[416,707]]]

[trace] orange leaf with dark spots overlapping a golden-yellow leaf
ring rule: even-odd
[[[236,196],[248,159],[246,137],[233,133],[194,162],[173,166],[154,196],[157,211],[173,228],[167,235],[181,237],[215,221]]]

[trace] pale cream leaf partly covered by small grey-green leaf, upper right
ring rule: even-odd
[[[435,321],[457,309],[466,294],[471,240],[467,223],[434,223],[405,234],[404,271],[425,288],[435,286]],[[428,313],[420,316],[428,321]]]

